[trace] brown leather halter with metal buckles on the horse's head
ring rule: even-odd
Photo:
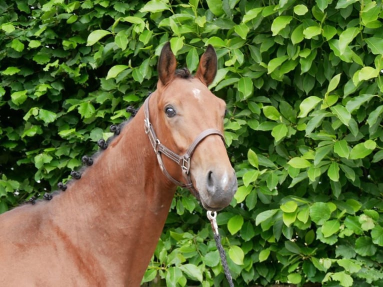
[[[222,138],[223,142],[224,142],[224,137],[218,129],[208,128],[208,129],[202,131],[201,133],[199,133],[199,135],[194,139],[194,141],[190,144],[190,146],[187,148],[186,152],[183,155],[178,155],[177,153],[175,153],[171,149],[169,149],[166,146],[164,146],[163,144],[161,144],[159,139],[157,138],[155,131],[154,131],[154,128],[153,128],[153,126],[149,120],[149,116],[150,116],[149,115],[149,98],[150,98],[150,95],[145,99],[145,102],[143,103],[143,112],[145,115],[144,128],[145,128],[145,133],[149,137],[151,146],[153,147],[154,152],[157,155],[159,167],[160,167],[161,171],[163,172],[163,174],[168,179],[170,179],[173,183],[175,183],[176,185],[179,185],[181,187],[189,188],[190,191],[192,191],[192,193],[194,193],[194,195],[198,198],[199,197],[198,192],[194,188],[193,183],[191,182],[191,175],[190,175],[191,156],[193,155],[193,152],[194,152],[195,148],[197,147],[197,145],[206,136],[217,134]],[[175,179],[173,176],[171,176],[169,174],[169,172],[166,170],[166,168],[163,164],[163,160],[161,157],[162,154],[166,155],[168,158],[175,161],[181,167],[182,174],[183,174],[183,177],[185,178],[186,183],[178,181],[177,179]]]

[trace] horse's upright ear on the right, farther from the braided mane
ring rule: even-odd
[[[208,45],[199,60],[199,65],[195,76],[206,85],[209,85],[217,72],[217,55],[212,45]]]

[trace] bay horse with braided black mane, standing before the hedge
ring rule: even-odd
[[[0,286],[139,286],[177,184],[209,210],[229,204],[216,62],[208,46],[191,76],[163,46],[157,89],[81,178],[0,216]]]

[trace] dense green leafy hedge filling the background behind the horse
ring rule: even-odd
[[[239,180],[217,216],[235,285],[383,285],[380,0],[0,0],[0,11],[0,212],[55,189],[139,106],[161,44],[195,71],[210,43]],[[180,190],[144,281],[225,285],[209,227]]]

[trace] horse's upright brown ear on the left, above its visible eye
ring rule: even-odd
[[[166,42],[158,59],[158,77],[163,85],[167,84],[174,76],[177,62],[170,48],[170,42]]]

